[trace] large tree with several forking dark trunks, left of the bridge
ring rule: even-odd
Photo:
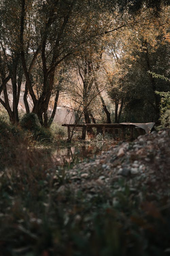
[[[92,10],[95,7],[98,8],[96,12],[93,12]],[[54,88],[54,76],[58,65],[73,53],[81,51],[87,42],[92,44],[94,39],[103,34],[105,29],[108,28],[108,22],[105,20],[103,24],[100,23],[101,6],[97,5],[97,2],[85,1],[82,4],[81,1],[77,0],[64,2],[49,1],[40,4],[39,16],[43,17],[41,25],[38,24],[37,26],[35,17],[33,17],[35,22],[34,29],[40,28],[40,40],[34,46],[36,51],[33,51],[33,46],[31,48],[32,52],[34,52],[32,61],[37,57],[38,53],[41,54],[38,64],[42,70],[43,84],[41,95],[37,99],[31,81],[30,68],[28,68],[25,59],[26,40],[24,38],[26,38],[25,34],[27,34],[27,27],[29,27],[25,24],[27,20],[26,9],[28,9],[26,8],[26,2],[22,0],[20,27],[22,66],[27,87],[34,103],[33,112],[38,115],[41,124],[47,126],[47,110]],[[106,28],[104,24],[107,24]]]

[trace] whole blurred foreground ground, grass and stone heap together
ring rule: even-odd
[[[170,129],[72,169],[8,133],[0,141],[1,256],[169,255]]]

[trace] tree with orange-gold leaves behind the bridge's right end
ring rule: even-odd
[[[127,121],[148,122],[159,118],[160,98],[155,90],[167,90],[167,84],[156,82],[147,71],[167,75],[168,10],[164,8],[157,18],[148,10],[143,11],[136,16],[135,24],[129,23],[119,30],[115,41],[109,43],[109,58],[113,56],[113,65],[105,69],[109,84],[112,84],[109,95],[115,103],[118,93],[124,98],[124,110],[129,113]]]

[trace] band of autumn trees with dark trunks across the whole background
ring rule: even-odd
[[[3,97],[0,103],[10,120],[19,122],[18,104],[21,84],[24,84],[26,112],[36,113],[41,125],[50,126],[70,68],[70,79],[78,71],[77,78],[81,78],[84,85],[82,111],[85,114],[87,106],[90,110],[88,117],[85,114],[86,122],[90,122],[89,118],[95,120],[91,108],[96,97],[100,98],[102,111],[110,122],[101,95],[108,84],[109,95],[115,103],[115,122],[118,122],[123,104],[134,107],[132,98],[139,99],[135,94],[140,91],[139,87],[143,91],[141,80],[146,80],[148,95],[152,91],[149,104],[155,109],[155,119],[159,118],[160,98],[154,91],[167,90],[167,86],[157,85],[152,75],[146,72],[168,75],[168,57],[162,58],[159,54],[168,52],[168,5],[168,0],[1,1],[0,94]],[[105,82],[101,77],[105,77]],[[10,79],[12,105],[6,85]],[[65,86],[65,90],[70,91],[70,88]],[[131,97],[133,91],[136,93]],[[28,93],[33,109],[27,101]],[[87,95],[91,95],[88,100]],[[52,106],[50,116],[49,106]]]

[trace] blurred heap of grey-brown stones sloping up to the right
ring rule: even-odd
[[[162,195],[167,193],[170,189],[170,129],[123,142],[89,162],[74,166],[65,173],[65,185],[57,191],[63,194],[69,189],[76,195],[81,190],[86,193],[86,199],[99,193],[109,197],[122,177],[132,191],[145,186],[150,194],[153,190]]]

